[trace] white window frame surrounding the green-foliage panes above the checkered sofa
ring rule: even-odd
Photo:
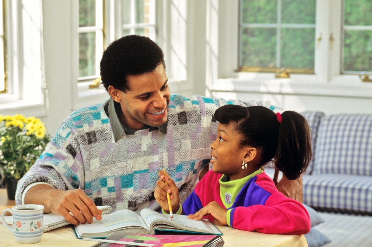
[[[291,74],[290,78],[275,78],[274,73],[236,72],[238,68],[238,1],[219,0],[218,31],[214,34],[218,50],[218,66],[207,77],[210,92],[253,92],[269,94],[353,96],[372,98],[369,93],[371,83],[361,82],[358,75],[340,74],[341,20],[342,4],[339,0],[317,0],[316,27],[317,37],[322,36],[315,49],[314,75]],[[339,21],[337,21],[339,20]],[[210,20],[212,21],[212,20]],[[329,37],[335,40],[333,49]],[[317,38],[314,37],[314,38]],[[340,42],[336,42],[336,41]],[[213,42],[213,37],[211,41]]]

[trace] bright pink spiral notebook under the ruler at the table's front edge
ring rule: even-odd
[[[153,247],[160,246],[187,246],[187,247],[222,247],[225,242],[221,235],[150,235],[138,234],[128,231],[119,231],[106,238],[106,240],[132,242],[133,245],[126,247],[135,247],[136,243],[152,244]],[[97,243],[92,247],[116,247],[122,244]]]

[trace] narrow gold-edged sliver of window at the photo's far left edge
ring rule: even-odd
[[[6,90],[6,49],[5,49],[5,9],[4,1],[0,3],[0,93]]]

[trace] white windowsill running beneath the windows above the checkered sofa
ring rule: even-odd
[[[362,82],[356,75],[336,76],[333,80],[324,82],[315,75],[291,75],[291,78],[275,78],[270,73],[236,73],[236,77],[218,79],[210,90],[372,98],[372,83]]]

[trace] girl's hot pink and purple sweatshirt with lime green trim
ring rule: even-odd
[[[210,202],[225,204],[233,191],[231,182],[221,182],[222,174],[208,171],[196,184],[195,190],[182,204],[182,214],[196,213]],[[221,189],[225,189],[222,196]],[[273,180],[265,172],[254,175],[228,202],[227,224],[231,227],[269,234],[306,234],[310,231],[310,216],[298,201],[284,196],[276,189]],[[213,221],[212,215],[204,218]]]

